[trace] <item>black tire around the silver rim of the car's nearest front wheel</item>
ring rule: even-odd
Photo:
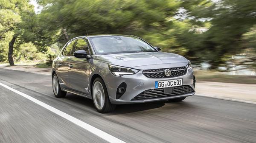
[[[114,104],[111,104],[111,102],[109,101],[109,97],[108,97],[108,91],[107,91],[107,88],[106,88],[106,85],[104,83],[104,81],[101,79],[101,78],[96,78],[94,81],[93,81],[93,86],[95,84],[96,81],[99,81],[101,84],[102,84],[102,87],[103,87],[103,90],[104,90],[104,97],[105,97],[105,102],[104,102],[104,105],[102,107],[102,109],[98,109],[94,103],[94,100],[93,100],[93,105],[94,107],[97,109],[98,112],[100,113],[107,113],[107,112],[112,112],[115,108],[116,108],[116,105]],[[92,91],[91,91],[91,95],[92,95],[92,98],[93,98],[93,86],[92,86]]]

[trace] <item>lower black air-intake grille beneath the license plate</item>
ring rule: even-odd
[[[163,88],[157,88],[157,89],[150,89],[145,90],[139,95],[135,96],[132,101],[134,100],[142,100],[142,99],[152,99],[152,98],[163,98],[163,97],[171,97],[171,96],[177,96],[177,95],[184,95],[187,93],[193,93],[194,90],[189,85],[183,85],[178,87],[173,87],[172,93],[164,93]]]

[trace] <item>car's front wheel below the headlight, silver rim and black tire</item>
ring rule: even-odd
[[[116,108],[116,105],[110,103],[108,91],[104,81],[101,78],[96,78],[93,81],[93,104],[100,113],[111,112]]]

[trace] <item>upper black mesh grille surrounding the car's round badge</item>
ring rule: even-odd
[[[171,76],[166,76],[164,74],[165,69],[166,68],[143,70],[142,73],[144,76],[151,79],[162,79],[162,78],[172,78],[177,76],[183,76],[187,72],[186,67],[172,67],[172,68],[168,68],[169,70],[171,70]]]

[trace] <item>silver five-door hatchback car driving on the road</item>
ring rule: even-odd
[[[52,63],[55,97],[93,100],[98,112],[116,104],[182,101],[195,94],[189,60],[160,52],[137,36],[92,35],[71,39]]]

